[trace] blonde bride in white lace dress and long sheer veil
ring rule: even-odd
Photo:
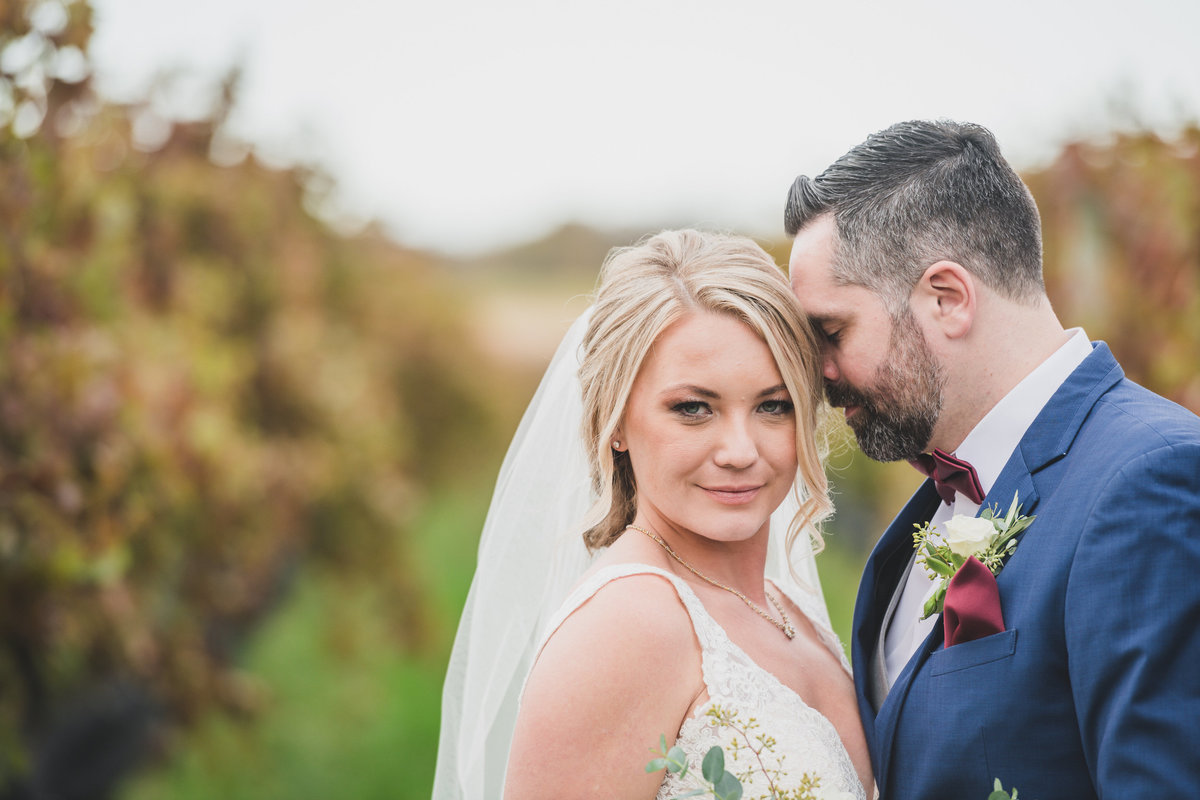
[[[752,241],[665,231],[610,254],[502,468],[436,799],[674,796],[690,786],[646,769],[660,735],[697,771],[721,745],[745,796],[874,793],[816,576],[794,579],[829,509],[820,368]]]

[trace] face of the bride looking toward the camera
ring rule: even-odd
[[[796,415],[767,343],[694,312],[659,336],[620,426],[638,518],[720,541],[752,537],[796,477]]]

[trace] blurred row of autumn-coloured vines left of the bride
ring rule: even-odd
[[[227,107],[148,152],[138,109],[56,77],[85,2],[0,17],[0,53],[37,54],[0,77],[2,787],[113,680],[168,730],[260,709],[242,643],[304,565],[427,649],[412,525],[494,451],[502,381],[425,258],[330,231],[304,170],[214,166]]]

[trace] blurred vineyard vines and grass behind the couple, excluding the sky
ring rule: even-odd
[[[90,35],[86,2],[0,0],[0,798],[427,796],[490,481],[632,235],[340,234],[322,175],[229,156],[235,77],[157,120],[96,96]],[[1060,315],[1200,410],[1200,128],[1025,176]],[[833,468],[845,630],[916,479]]]

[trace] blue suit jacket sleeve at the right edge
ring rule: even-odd
[[[1066,593],[1070,685],[1099,796],[1195,796],[1200,443],[1116,473],[1088,510]]]

